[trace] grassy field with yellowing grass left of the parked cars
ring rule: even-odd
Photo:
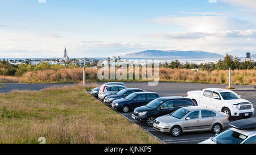
[[[89,87],[87,87],[89,89]],[[81,86],[0,94],[0,143],[159,143]]]

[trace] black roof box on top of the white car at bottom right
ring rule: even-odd
[[[229,126],[236,129],[240,129],[240,130],[256,129],[256,119],[249,118],[249,119],[236,120],[234,122],[229,123]]]

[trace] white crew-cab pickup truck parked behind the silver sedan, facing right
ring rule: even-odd
[[[203,91],[188,91],[187,97],[198,106],[224,112],[229,117],[243,116],[243,118],[250,118],[254,114],[253,103],[242,99],[240,95],[231,90],[209,88]]]

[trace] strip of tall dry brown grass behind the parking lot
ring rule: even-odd
[[[135,70],[135,69],[134,69]],[[154,70],[153,70],[154,71]],[[97,78],[97,69],[86,68],[86,81],[100,81]],[[127,70],[127,73],[129,71]],[[133,71],[134,73],[134,71]],[[142,80],[142,72],[140,68],[140,79],[132,81],[147,81]],[[110,76],[110,73],[109,73]],[[11,77],[9,77],[11,78]],[[22,77],[13,77],[15,81],[27,83],[44,83],[44,82],[80,82],[82,81],[82,68],[60,69],[60,70],[40,70],[38,72],[27,72]],[[129,79],[127,77],[127,79]],[[112,80],[112,81],[116,81]],[[106,80],[108,81],[108,80]],[[129,80],[122,80],[129,81]],[[228,70],[213,70],[208,71],[193,71],[190,69],[171,69],[159,68],[159,81],[162,82],[203,82],[203,83],[228,83]],[[256,70],[233,70],[232,84],[235,85],[254,85],[256,82]]]

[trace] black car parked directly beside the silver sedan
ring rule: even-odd
[[[171,114],[181,107],[196,106],[196,104],[186,97],[162,97],[153,100],[145,106],[135,108],[132,118],[140,122],[146,122],[152,126],[155,118]]]

